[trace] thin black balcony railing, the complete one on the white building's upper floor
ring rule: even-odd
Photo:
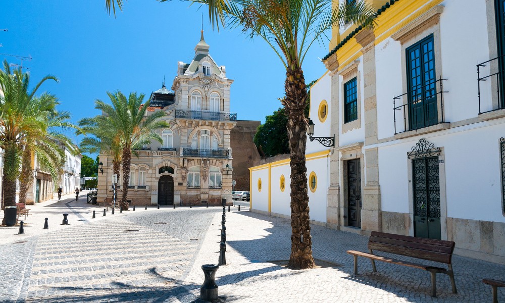
[[[447,81],[447,79],[440,78],[417,89],[393,97],[395,135],[446,122],[444,121],[445,115],[443,112],[443,93],[448,91],[443,90],[443,81]],[[413,94],[419,97],[412,100]],[[409,102],[396,106],[397,100],[401,102],[401,99],[404,97],[409,98]],[[439,110],[440,113],[438,112]],[[396,117],[399,115],[397,111],[403,115],[403,130],[397,130]],[[401,119],[401,115],[399,119]]]

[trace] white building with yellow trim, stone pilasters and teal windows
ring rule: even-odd
[[[314,136],[335,136],[327,157],[308,142],[311,219],[505,263],[503,1],[367,2],[377,27],[335,29],[311,88]],[[280,167],[251,168],[252,210],[289,216]]]

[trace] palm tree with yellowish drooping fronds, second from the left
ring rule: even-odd
[[[41,127],[26,134],[22,142],[22,166],[19,177],[19,202],[26,202],[28,186],[33,181],[31,174],[32,153],[37,157],[37,162],[44,171],[49,172],[56,185],[60,181],[65,165],[65,149],[74,151],[72,141],[58,131],[59,128],[75,128],[68,122],[70,113],[58,112],[58,98],[53,94],[44,93],[34,97],[29,105],[26,115],[41,122]],[[62,148],[64,146],[64,148]]]

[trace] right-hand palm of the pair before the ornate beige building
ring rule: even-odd
[[[127,195],[132,149],[151,140],[161,143],[162,138],[156,130],[169,127],[169,124],[161,120],[165,117],[165,112],[157,111],[146,115],[149,101],[143,104],[144,94],[132,92],[128,98],[119,90],[115,93],[107,92],[107,94],[112,105],[102,100],[95,101],[95,109],[103,113],[102,116],[95,117],[99,121],[96,126],[107,125],[106,129],[114,131],[115,135],[112,139],[114,144],[120,147],[123,161],[123,194],[120,205],[124,210],[128,210]]]

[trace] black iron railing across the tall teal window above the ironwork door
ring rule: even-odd
[[[406,93],[402,93],[398,96],[395,96],[393,97],[393,123],[394,123],[394,134],[399,134],[399,133],[402,133],[402,132],[406,132],[406,131],[411,131],[411,130],[418,130],[418,129],[421,129],[421,128],[425,128],[425,127],[428,127],[428,126],[432,126],[432,125],[436,125],[436,124],[442,124],[442,123],[447,123],[447,121],[445,121],[445,115],[444,115],[444,109],[443,109],[443,94],[446,93],[446,92],[449,92],[448,90],[443,90],[443,81],[447,81],[447,79],[443,79],[442,77],[440,77],[440,79],[438,80],[434,80],[434,81],[431,81],[429,82],[428,84],[426,85],[423,85],[417,89],[414,89],[414,90],[411,90],[411,91],[408,91]],[[436,93],[435,94],[430,94],[429,96],[424,96],[422,97],[421,99],[417,99],[417,100],[414,100],[414,101],[409,101],[408,103],[406,104],[402,104],[400,106],[396,106],[396,100],[401,100],[403,98],[403,96],[408,96],[410,98],[410,96],[412,95],[412,93],[414,92],[418,92],[419,90],[422,90],[423,88],[427,87],[427,86],[430,86],[432,84],[435,84],[438,83],[438,86],[440,89],[436,89]],[[411,114],[413,109],[411,108],[413,105],[417,105],[419,104],[420,102],[428,102],[430,99],[432,98],[437,98],[437,102],[438,102],[438,98],[440,98],[440,104],[437,104],[437,107],[440,106],[440,113],[441,113],[441,119],[440,121],[438,121],[437,123],[432,123],[432,124],[427,124],[427,125],[424,125],[422,127],[411,127],[411,125],[417,125],[418,121],[417,121],[417,118],[416,118],[416,115],[415,114]],[[403,131],[396,131],[396,111],[402,111],[403,112]],[[409,117],[409,121],[407,121],[407,117]],[[412,121],[411,121],[412,119]],[[439,120],[437,118],[437,120]],[[409,125],[408,125],[409,124]]]

